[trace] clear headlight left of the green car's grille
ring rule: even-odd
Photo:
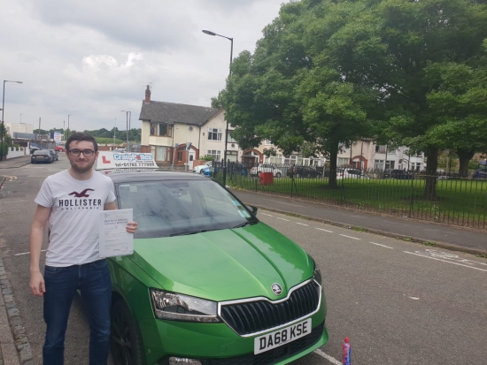
[[[151,289],[152,308],[160,319],[184,322],[219,323],[216,301]]]

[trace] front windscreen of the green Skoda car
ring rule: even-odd
[[[257,222],[212,180],[158,180],[116,186],[120,209],[134,209],[136,239],[236,228]]]

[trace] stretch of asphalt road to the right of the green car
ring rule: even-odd
[[[329,343],[341,363],[485,364],[487,260],[259,211],[259,218],[313,256],[328,302]],[[313,354],[296,365],[333,363]]]

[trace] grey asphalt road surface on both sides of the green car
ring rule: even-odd
[[[11,194],[0,199],[0,254],[39,364],[43,300],[28,288],[28,235],[43,179],[67,166],[59,156],[52,164],[0,171],[12,177],[4,183]],[[340,364],[344,337],[351,338],[353,364],[485,363],[487,260],[264,210],[259,218],[304,247],[323,274],[330,340],[294,365]],[[66,364],[88,363],[88,341],[75,300]]]

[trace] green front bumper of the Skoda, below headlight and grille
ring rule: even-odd
[[[142,319],[138,324],[145,363],[166,365],[169,357],[176,356],[199,359],[205,365],[286,364],[328,342],[324,325],[326,310],[322,295],[320,309],[311,316],[313,331],[310,335],[257,355],[253,351],[254,338],[258,336],[240,337],[226,323]]]

